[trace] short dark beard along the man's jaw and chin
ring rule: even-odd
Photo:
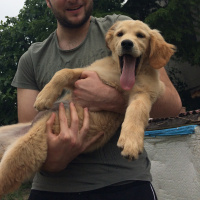
[[[51,4],[51,2],[50,2],[50,4]],[[84,25],[88,21],[88,19],[90,18],[91,14],[92,14],[92,11],[93,11],[93,1],[91,1],[91,4],[89,5],[89,8],[86,10],[84,18],[81,21],[79,21],[78,23],[73,23],[70,20],[68,20],[66,17],[61,16],[60,13],[57,12],[53,8],[52,4],[51,4],[51,10],[52,10],[55,18],[58,20],[59,24],[62,27],[64,27],[64,28],[79,28],[82,25]]]

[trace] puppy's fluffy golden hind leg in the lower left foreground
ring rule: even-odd
[[[0,163],[0,196],[18,189],[41,168],[47,156],[45,129],[44,120],[40,120],[8,147]]]

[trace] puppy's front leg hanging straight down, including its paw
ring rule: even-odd
[[[151,100],[147,93],[135,94],[130,98],[117,146],[121,154],[129,159],[138,158],[144,147],[144,129],[148,124]]]

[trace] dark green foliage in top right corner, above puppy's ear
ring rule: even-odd
[[[169,0],[165,7],[146,18],[152,28],[177,46],[176,56],[192,65],[200,65],[200,0]]]

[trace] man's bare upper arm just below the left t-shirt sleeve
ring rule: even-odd
[[[37,111],[33,107],[39,91],[31,89],[17,89],[18,121],[30,122],[36,116]]]

